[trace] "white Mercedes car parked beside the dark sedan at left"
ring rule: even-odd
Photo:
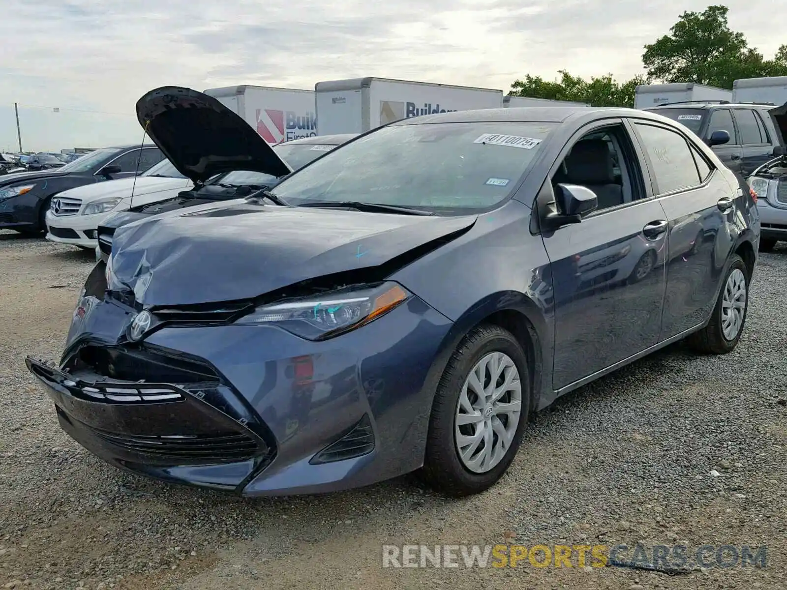
[[[98,225],[114,212],[174,197],[193,184],[164,158],[139,176],[64,190],[46,212],[46,239],[95,249]]]

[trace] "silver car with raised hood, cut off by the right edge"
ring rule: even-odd
[[[787,137],[787,105],[773,109],[774,117]],[[759,249],[770,252],[777,242],[787,242],[787,153],[778,150],[778,157],[757,168],[748,178],[748,184],[757,194],[760,224],[763,227]]]

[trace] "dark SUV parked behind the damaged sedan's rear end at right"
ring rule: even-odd
[[[727,168],[746,179],[756,168],[785,153],[785,138],[769,113],[775,106],[770,103],[689,101],[645,110],[688,127],[711,146]],[[729,141],[721,141],[723,134],[712,137],[715,131],[729,133]]]

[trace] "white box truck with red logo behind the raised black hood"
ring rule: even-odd
[[[242,116],[270,144],[317,135],[314,90],[243,85],[205,94]]]

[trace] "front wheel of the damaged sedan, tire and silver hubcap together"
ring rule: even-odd
[[[519,449],[529,407],[530,372],[519,342],[499,326],[476,327],[435,393],[423,477],[449,496],[490,488]]]

